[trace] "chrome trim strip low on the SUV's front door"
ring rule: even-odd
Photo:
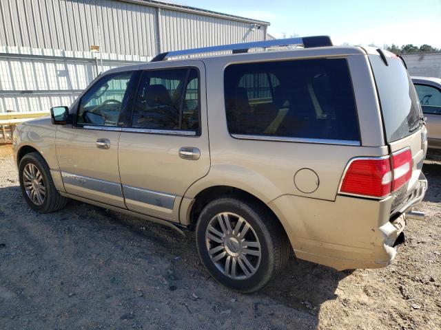
[[[70,184],[72,186],[78,186],[123,198],[121,184],[117,184],[116,182],[94,179],[93,177],[83,177],[82,175],[66,172],[61,172],[61,177],[63,177],[64,184]]]

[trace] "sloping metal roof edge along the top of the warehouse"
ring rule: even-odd
[[[253,23],[259,25],[270,25],[269,22],[259,21],[258,19],[248,19],[246,17],[240,17],[232,14],[225,14],[223,12],[214,12],[212,10],[206,10],[196,7],[191,7],[189,5],[181,5],[180,3],[172,3],[168,1],[158,1],[158,0],[119,0],[124,2],[138,3],[141,5],[150,5],[156,8],[164,8],[168,10],[178,10],[180,12],[189,12],[192,14],[200,14],[211,17],[219,17],[222,19],[229,19],[233,21],[240,21],[245,23]]]

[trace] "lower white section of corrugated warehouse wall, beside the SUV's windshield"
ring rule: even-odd
[[[26,54],[27,49],[18,50],[21,54],[10,54],[10,47],[0,47],[0,112],[48,111],[72,104],[101,71],[100,61],[90,53],[69,57],[66,52],[64,56],[48,56],[48,52]],[[103,71],[141,61],[139,56],[130,57],[132,61],[106,58]]]

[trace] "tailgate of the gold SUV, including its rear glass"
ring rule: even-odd
[[[412,80],[397,56],[369,55],[376,81],[384,124],[386,142],[390,152],[400,153],[410,148],[413,168],[409,184],[393,193],[394,205],[416,188],[427,149],[427,130],[422,122],[422,111]]]

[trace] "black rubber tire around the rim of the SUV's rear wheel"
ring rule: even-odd
[[[207,243],[205,233],[210,221],[216,217],[216,214],[222,212],[232,213],[233,217],[234,214],[237,214],[245,219],[251,225],[254,230],[253,234],[257,236],[260,242],[260,263],[258,267],[255,267],[255,273],[248,278],[237,279],[225,275],[209,256],[207,245],[210,243]],[[203,264],[216,281],[234,291],[243,293],[255,292],[267,285],[274,275],[286,267],[291,251],[291,245],[285,230],[265,205],[234,196],[216,199],[205,206],[196,225],[196,244]],[[226,245],[225,242],[218,244]],[[229,256],[228,253],[225,254],[225,258]],[[231,264],[230,261],[230,270],[232,268]],[[224,271],[225,268],[226,266]]]

